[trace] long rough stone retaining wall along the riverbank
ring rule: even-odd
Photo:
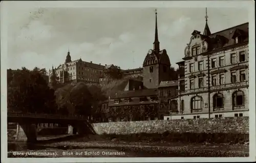
[[[242,133],[249,134],[248,117],[109,122],[92,124],[98,134],[133,133]]]

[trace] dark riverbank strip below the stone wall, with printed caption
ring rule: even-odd
[[[24,153],[17,156],[14,152]],[[32,154],[26,155],[27,152]],[[42,154],[44,152],[56,153]],[[120,154],[122,153],[123,154]],[[39,153],[39,154],[38,154]],[[68,154],[70,153],[70,154]],[[88,154],[89,153],[89,154]],[[91,154],[90,154],[91,153]],[[110,153],[110,154],[106,154]],[[119,153],[119,154],[118,154]],[[65,141],[8,152],[8,157],[248,157],[249,145],[170,142]]]

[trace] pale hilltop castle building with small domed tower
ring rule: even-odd
[[[99,83],[100,75],[105,66],[92,62],[85,62],[82,61],[81,58],[75,61],[71,61],[70,52],[68,52],[64,64],[60,64],[57,68],[52,67],[52,69],[49,70],[49,82],[51,82],[51,76],[55,75],[57,81],[60,83],[72,81]]]

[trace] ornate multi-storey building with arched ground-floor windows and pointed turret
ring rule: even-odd
[[[177,112],[164,119],[242,117],[249,115],[248,22],[211,34],[194,31],[179,76]]]

